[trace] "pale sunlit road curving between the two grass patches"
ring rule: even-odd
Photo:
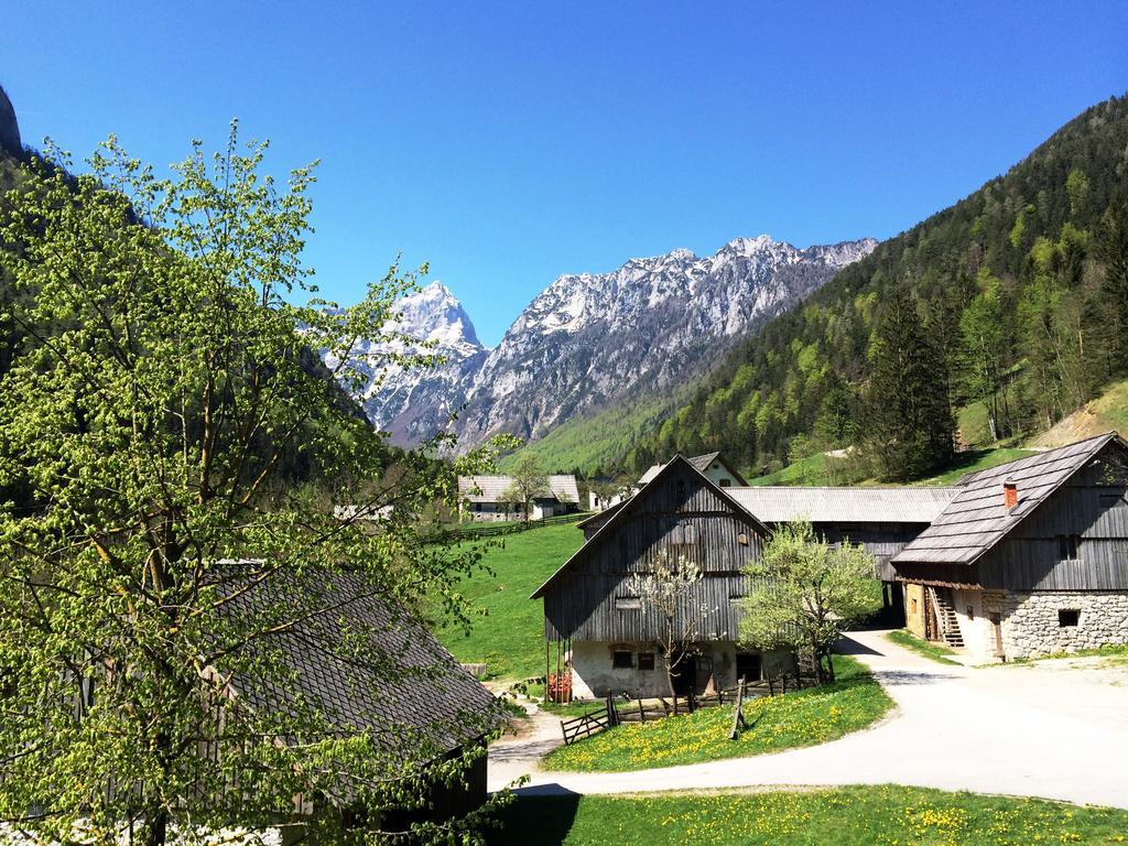
[[[1122,663],[1078,659],[969,669],[922,658],[883,632],[852,633],[841,651],[867,664],[897,703],[869,730],[803,749],[629,777],[543,772],[513,749],[495,768],[491,750],[490,786],[503,787],[523,769],[531,779],[520,792],[528,794],[902,784],[1128,808]],[[540,748],[553,748],[547,728],[540,731]]]

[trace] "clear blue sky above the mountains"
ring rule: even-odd
[[[327,296],[402,252],[490,344],[561,273],[896,235],[1128,91],[1112,2],[5,6],[26,142],[164,165],[238,116],[321,159]]]

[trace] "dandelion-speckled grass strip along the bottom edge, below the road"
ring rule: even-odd
[[[1032,846],[1128,843],[1128,811],[881,785],[519,797],[488,843],[547,846]]]

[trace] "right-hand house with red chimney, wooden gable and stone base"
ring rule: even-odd
[[[964,476],[892,558],[909,627],[981,661],[1128,643],[1126,490],[1111,432]]]

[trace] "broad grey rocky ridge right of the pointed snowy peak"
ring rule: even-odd
[[[668,391],[874,246],[801,250],[760,236],[705,258],[676,249],[611,273],[561,276],[486,358],[467,391],[461,439],[536,439],[575,415]]]

